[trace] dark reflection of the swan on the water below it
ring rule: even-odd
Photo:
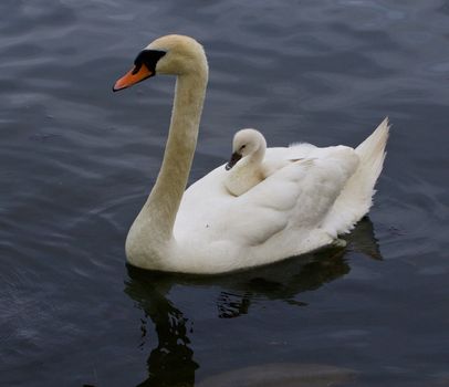
[[[147,359],[148,378],[138,386],[195,385],[195,372],[199,364],[189,347],[188,317],[166,296],[173,285],[220,286],[216,304],[218,317],[234,318],[250,312],[255,299],[283,300],[289,304],[303,306],[297,301],[300,293],[319,289],[326,282],[349,272],[345,255],[356,250],[374,259],[382,259],[373,224],[364,219],[347,238],[345,249],[325,249],[313,254],[289,259],[278,264],[253,269],[230,275],[211,278],[149,272],[128,266],[129,281],[125,292],[137,302],[146,317],[155,325],[158,345]],[[142,323],[143,339],[146,322]]]

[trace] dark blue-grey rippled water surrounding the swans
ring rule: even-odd
[[[247,386],[273,369],[270,386],[449,385],[447,1],[2,0],[0,14],[1,386]],[[171,32],[211,67],[191,180],[241,127],[354,146],[390,117],[375,207],[345,250],[207,280],[126,268],[174,80],[111,87]]]

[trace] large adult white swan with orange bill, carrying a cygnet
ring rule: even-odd
[[[279,169],[239,197],[223,186],[224,166],[185,191],[208,82],[202,46],[188,36],[161,36],[114,91],[155,74],[177,76],[175,101],[157,181],[126,239],[130,264],[203,274],[257,266],[331,244],[368,211],[385,158],[386,119],[356,149],[267,149],[273,159],[309,160]]]

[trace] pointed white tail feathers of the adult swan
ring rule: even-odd
[[[349,232],[373,205],[389,134],[388,117],[356,149],[359,165],[327,213],[323,228],[332,236]]]

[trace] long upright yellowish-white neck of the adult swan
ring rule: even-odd
[[[152,240],[171,238],[176,213],[187,186],[208,80],[207,65],[178,75],[168,140],[156,184],[136,221]],[[149,234],[150,233],[150,234]]]

